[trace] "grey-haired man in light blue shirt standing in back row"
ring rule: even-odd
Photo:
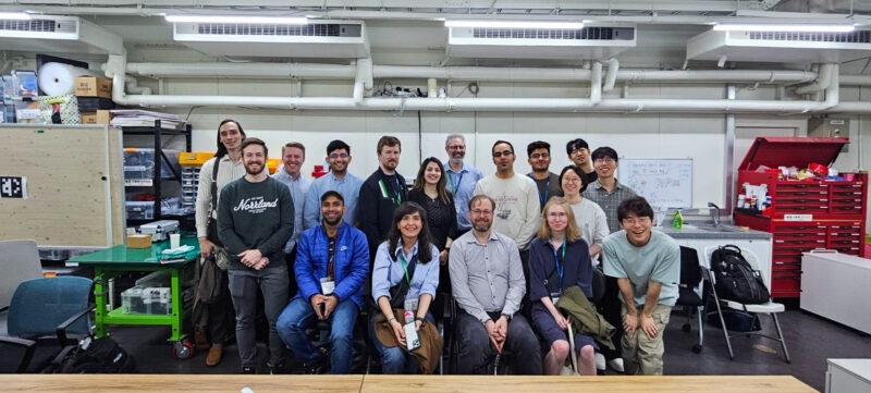
[[[444,140],[444,151],[447,151],[447,164],[444,165],[445,183],[454,194],[456,206],[457,237],[471,229],[469,222],[469,199],[475,192],[475,185],[483,177],[477,168],[463,161],[466,157],[466,138],[459,134],[451,134]]]

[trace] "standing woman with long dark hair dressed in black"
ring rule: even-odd
[[[417,202],[427,212],[427,222],[433,245],[439,249],[439,293],[451,293],[447,275],[447,251],[456,237],[456,207],[454,196],[445,187],[444,165],[436,157],[424,160],[417,171],[415,185],[408,192],[408,200]],[[445,296],[437,296],[433,315],[441,320]]]

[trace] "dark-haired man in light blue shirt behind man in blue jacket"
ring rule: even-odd
[[[315,228],[323,219],[320,212],[320,197],[328,191],[342,194],[344,206],[347,208],[343,221],[355,224],[357,213],[357,197],[363,186],[359,179],[347,171],[351,164],[351,146],[342,140],[333,140],[327,145],[327,162],[330,173],[315,180],[306,193],[306,202],[303,211],[305,229]]]

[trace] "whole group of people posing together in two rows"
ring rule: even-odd
[[[220,363],[235,320],[242,372],[256,372],[259,292],[272,372],[284,371],[287,348],[307,372],[349,372],[363,312],[384,373],[431,373],[444,346],[437,322],[453,299],[459,373],[487,372],[504,355],[513,373],[559,374],[569,341],[578,373],[596,374],[605,359],[629,374],[662,373],[679,248],[651,231],[651,207],[614,176],[614,149],[574,139],[573,164],[556,174],[538,140],[522,175],[514,146],[499,140],[496,171],[484,176],[453,134],[447,162],[425,159],[409,189],[392,136],[378,140],[379,168],[366,180],[348,172],[342,140],[328,144],[330,172],[314,181],[300,173],[299,143],[282,147],[272,176],[266,144],[238,122],[221,122],[217,146],[200,170],[199,269],[229,295],[197,294],[207,365]],[[591,302],[602,273],[604,295]],[[329,324],[330,356],[307,334],[316,321]]]

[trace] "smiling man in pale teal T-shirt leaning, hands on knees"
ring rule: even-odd
[[[661,376],[662,330],[677,300],[680,248],[651,231],[653,209],[645,198],[625,199],[617,208],[623,231],[602,241],[604,273],[617,279],[623,302],[621,341],[627,374]]]

